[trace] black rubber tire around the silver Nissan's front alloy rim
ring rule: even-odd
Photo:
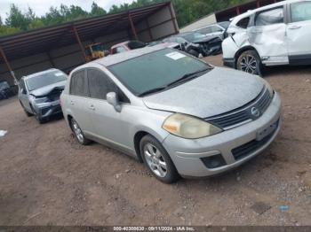
[[[160,176],[160,175],[155,173],[156,170],[159,170],[159,169],[152,170],[152,168],[148,164],[150,159],[147,158],[148,156],[144,152],[145,148],[148,147],[148,145],[152,145],[153,148],[156,149],[156,151],[160,151],[160,154],[161,154],[160,160],[162,160],[162,162],[165,163],[165,167],[166,167],[166,171],[164,172],[165,174],[163,176]],[[162,144],[159,143],[156,140],[156,138],[154,138],[153,136],[145,135],[140,140],[140,154],[141,154],[142,159],[144,160],[145,165],[148,167],[148,170],[159,181],[164,182],[164,183],[173,183],[173,182],[177,182],[180,179],[180,175],[178,174],[176,167],[172,163],[170,155],[167,153],[167,151],[165,151]],[[165,170],[165,169],[162,169],[162,172],[163,172],[163,170]]]

